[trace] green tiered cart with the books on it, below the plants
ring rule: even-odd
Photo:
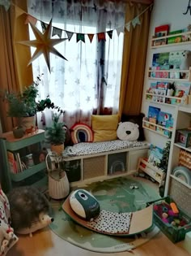
[[[38,130],[30,135],[15,139],[13,132],[0,135],[2,152],[2,187],[8,192],[14,186],[33,184],[38,188],[47,182],[45,154],[42,143],[45,131]]]

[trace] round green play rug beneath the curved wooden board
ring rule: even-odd
[[[100,202],[100,208],[110,211],[136,211],[146,207],[146,202],[159,198],[157,187],[142,178],[121,177],[104,180],[83,187],[90,191]],[[146,243],[159,232],[155,225],[151,230],[135,236],[107,236],[92,232],[75,223],[62,210],[63,201],[51,200],[53,223],[50,228],[57,236],[83,249],[99,253],[114,253],[134,249]]]

